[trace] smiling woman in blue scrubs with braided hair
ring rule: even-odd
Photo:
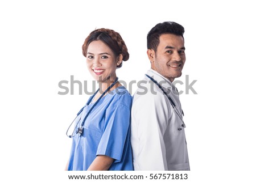
[[[132,97],[115,73],[129,59],[125,42],[111,29],[96,29],[85,39],[82,53],[99,90],[77,115],[66,170],[133,170]]]

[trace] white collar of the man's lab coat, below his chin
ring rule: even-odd
[[[160,83],[162,87],[166,87],[168,89],[171,88],[172,91],[176,92],[176,87],[174,86],[174,84],[172,84],[171,81],[169,81],[166,77],[163,77],[163,75],[159,74],[157,71],[150,69],[147,71],[147,75],[154,78],[155,81]]]

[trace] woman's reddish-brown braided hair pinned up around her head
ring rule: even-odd
[[[86,37],[84,44],[82,45],[82,54],[86,57],[88,45],[94,40],[101,40],[114,52],[115,56],[122,54],[123,61],[129,59],[129,53],[125,42],[118,32],[108,28],[100,28],[92,31],[88,37]],[[122,63],[117,67],[122,67]]]

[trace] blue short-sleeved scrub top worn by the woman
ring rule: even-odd
[[[69,171],[87,170],[97,155],[114,159],[110,171],[133,170],[131,103],[132,97],[123,86],[115,88],[97,103],[85,120],[82,135],[73,137]],[[80,124],[92,105],[84,107],[80,113]]]

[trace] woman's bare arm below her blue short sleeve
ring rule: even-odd
[[[106,171],[109,169],[114,159],[106,155],[98,155],[88,168],[88,171]]]

